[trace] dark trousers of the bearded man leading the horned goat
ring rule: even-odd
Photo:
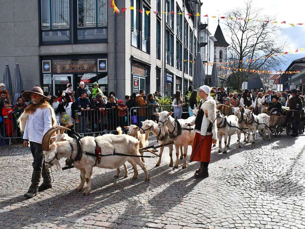
[[[36,142],[30,142],[30,149],[33,155],[33,170],[41,171],[44,184],[51,183],[49,169],[45,168],[45,156],[42,153],[42,145]]]

